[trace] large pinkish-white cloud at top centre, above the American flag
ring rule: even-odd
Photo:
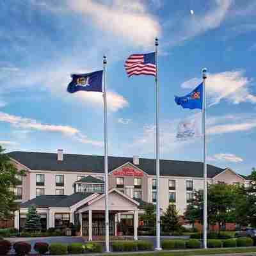
[[[84,15],[85,21],[92,18],[93,23],[103,31],[122,36],[125,42],[147,47],[154,44],[154,38],[161,34],[156,18],[147,13],[140,0],[113,0],[111,4],[92,0],[68,1],[69,7]]]

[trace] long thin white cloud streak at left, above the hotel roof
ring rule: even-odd
[[[42,132],[59,132],[81,143],[92,144],[94,146],[102,147],[102,141],[90,140],[86,135],[82,134],[78,129],[68,125],[42,124],[36,121],[35,119],[9,115],[8,113],[4,113],[4,112],[0,112],[0,122],[6,122],[8,124],[13,125],[13,127],[25,129],[25,130],[35,130],[35,131],[42,131]]]

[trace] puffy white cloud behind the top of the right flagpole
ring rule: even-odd
[[[182,83],[182,88],[194,88],[202,79],[194,77]],[[249,90],[250,79],[244,76],[243,71],[226,71],[216,74],[208,74],[206,80],[207,103],[220,103],[221,99],[228,100],[233,104],[241,102],[256,103],[256,96]]]

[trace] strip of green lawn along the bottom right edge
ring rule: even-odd
[[[140,253],[140,256],[189,256],[189,255],[211,255],[211,254],[221,254],[221,253],[243,253],[243,252],[256,252],[255,248],[217,248],[217,249],[201,249],[201,250],[179,250],[179,252],[151,252],[151,253]],[[125,256],[134,256],[136,253],[125,254]],[[110,256],[111,254],[107,254]],[[232,255],[232,254],[231,254]]]

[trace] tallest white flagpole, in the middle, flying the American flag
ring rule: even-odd
[[[160,244],[160,208],[159,208],[159,124],[158,124],[158,115],[159,115],[159,88],[158,88],[158,79],[157,79],[157,46],[158,39],[156,38],[156,248],[155,250],[161,250]]]

